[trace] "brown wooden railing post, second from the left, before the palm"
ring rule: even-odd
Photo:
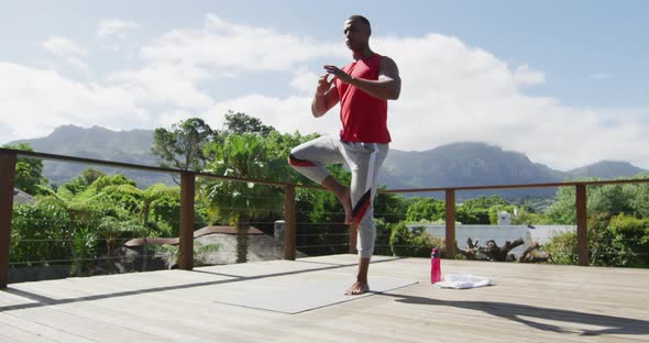
[[[194,269],[194,197],[196,175],[180,174],[180,246],[178,264],[180,269]]]

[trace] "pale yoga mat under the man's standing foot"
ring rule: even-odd
[[[370,275],[370,292],[345,296],[344,291],[353,281],[353,274],[331,272],[261,278],[243,281],[244,285],[219,285],[215,289],[215,301],[295,314],[417,284]]]

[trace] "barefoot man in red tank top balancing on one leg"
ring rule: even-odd
[[[289,163],[333,191],[344,209],[345,224],[358,224],[359,270],[345,294],[361,295],[370,290],[367,269],[376,237],[373,199],[378,168],[391,142],[387,100],[398,99],[402,80],[395,62],[370,48],[372,27],[367,19],[350,16],[343,32],[354,62],[342,69],[326,65],[327,74],[320,77],[311,103],[311,112],[318,118],[340,102],[340,137],[322,136],[304,143],[293,148]],[[352,172],[350,187],[338,182],[322,165],[343,162]]]

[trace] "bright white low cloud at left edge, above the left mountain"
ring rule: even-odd
[[[111,129],[148,126],[147,110],[120,87],[70,80],[54,70],[0,62],[0,131],[3,141],[50,134],[63,124]]]

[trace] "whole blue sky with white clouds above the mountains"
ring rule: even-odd
[[[222,128],[231,110],[282,132],[316,119],[322,65],[352,62],[342,27],[372,22],[393,58],[392,148],[484,142],[568,170],[649,168],[647,1],[0,0],[0,144],[75,124]]]

